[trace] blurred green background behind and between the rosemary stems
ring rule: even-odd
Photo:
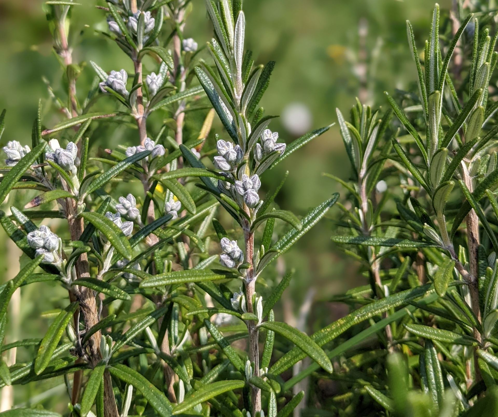
[[[132,72],[124,53],[95,32],[96,29],[107,29],[105,13],[95,8],[93,0],[80,2],[83,5],[72,12],[70,31],[74,61],[92,60],[106,71],[125,68]],[[0,108],[7,108],[6,128],[0,146],[9,140],[30,144],[38,98],[46,101],[48,97],[43,77],[64,96],[61,69],[51,51],[52,38],[42,3],[39,0],[0,1]],[[443,9],[448,8],[451,1],[441,1],[440,4]],[[212,29],[204,1],[193,0],[193,5],[185,35],[203,45],[210,39]],[[246,46],[252,49],[256,62],[274,60],[277,63],[262,101],[267,114],[282,115],[272,123],[272,130],[277,130],[282,140],[290,142],[305,129],[312,130],[335,122],[336,107],[348,114],[355,96],[375,107],[385,106],[384,90],[408,88],[415,81],[405,20],[412,22],[417,45],[422,47],[428,34],[432,7],[432,0],[246,0]],[[202,54],[208,59],[207,52]],[[147,65],[145,69],[146,72],[157,71]],[[80,101],[85,98],[94,75],[92,68],[84,65],[77,83]],[[102,100],[98,105],[114,104]],[[61,120],[60,114],[47,106],[45,108],[44,125],[50,127]],[[132,143],[134,132],[130,133],[130,129],[120,126],[114,134],[110,131],[103,130],[99,137],[94,134],[92,146],[95,152],[98,148]],[[214,131],[221,133],[218,124]],[[321,174],[330,172],[348,178],[345,155],[338,127],[334,126],[288,158],[272,176],[266,176],[263,187],[279,182],[284,171],[289,169],[289,178],[278,197],[278,204],[303,215],[308,208],[329,198],[331,193],[341,191],[339,184]],[[281,269],[296,268],[289,294],[284,300],[287,314],[297,310],[296,306],[310,288],[315,290],[314,299],[323,301],[363,282],[364,278],[358,276],[358,265],[346,262],[333,250],[330,236],[335,229],[332,218],[336,210],[331,210],[326,220],[283,256],[286,264],[279,265]],[[0,281],[3,282],[15,273],[18,265],[17,251],[6,245],[3,233],[0,236]],[[30,318],[53,308],[52,300],[61,295],[55,286],[46,283],[25,288],[21,298],[22,316],[11,322],[11,326],[18,337],[39,337],[40,327],[46,329],[49,321],[40,323]],[[341,306],[320,302],[316,306],[309,323],[313,323],[313,317],[318,314],[330,316],[327,322],[331,322],[344,313]],[[284,312],[277,314],[283,315]],[[20,328],[19,323],[22,323]],[[313,330],[312,325],[308,326],[308,332]],[[22,353],[19,354],[19,360],[22,360]],[[61,396],[65,395],[63,391]],[[15,388],[14,392],[14,403],[19,404],[38,391],[34,384],[30,384],[25,389]]]

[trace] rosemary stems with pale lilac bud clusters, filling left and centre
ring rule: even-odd
[[[196,41],[184,38],[191,1],[99,4],[109,30],[98,34],[121,48],[133,73],[90,61],[96,78],[90,91],[80,92],[83,69],[68,42],[78,6],[45,3],[67,77],[65,95],[51,87],[49,93],[65,119],[45,128],[40,101],[32,149],[7,143],[0,182],[0,204],[13,201],[5,204],[0,224],[30,258],[1,287],[1,342],[9,337],[7,306],[17,288],[55,281],[68,294],[40,339],[3,346],[27,347],[33,356],[10,366],[1,359],[0,385],[62,377],[68,398],[53,412],[19,408],[12,415],[288,416],[304,393],[292,397],[282,390],[279,374],[296,360],[284,356],[272,364],[288,350],[286,344],[274,348],[276,335],[296,345],[294,357],[309,356],[326,372],[332,364],[316,341],[274,319],[272,308],[291,274],[265,300],[256,282],[338,195],[300,220],[272,208],[283,181],[261,198],[260,177],[330,126],[287,146],[268,129],[274,116],[264,116],[259,101],[274,63],[254,66],[244,50],[240,0],[206,1],[215,29],[208,61],[200,59]],[[146,74],[145,59],[154,72]],[[196,108],[204,92],[214,110]],[[98,111],[105,96],[115,100],[115,111]],[[189,109],[204,111],[193,140],[184,139]],[[218,155],[211,160],[204,145],[215,112],[227,140],[216,135]],[[150,123],[151,114],[164,122]],[[134,125],[133,143],[92,149],[100,124],[109,121]],[[233,218],[230,237],[215,218],[220,207]],[[275,220],[288,224],[276,240]],[[218,260],[221,266],[210,268]],[[247,349],[231,344],[240,339],[247,339]]]

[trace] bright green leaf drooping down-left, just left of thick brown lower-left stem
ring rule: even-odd
[[[50,363],[52,354],[78,306],[79,304],[77,302],[71,303],[59,313],[48,328],[47,333],[40,342],[40,347],[38,348],[38,353],[34,360],[34,371],[36,375],[41,374]]]

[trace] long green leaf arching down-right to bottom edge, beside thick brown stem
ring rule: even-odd
[[[121,363],[116,363],[110,366],[109,372],[115,378],[119,378],[127,384],[133,385],[138,391],[140,391],[150,406],[156,411],[158,416],[171,416],[171,412],[173,410],[171,403],[168,401],[166,396],[144,376]]]

